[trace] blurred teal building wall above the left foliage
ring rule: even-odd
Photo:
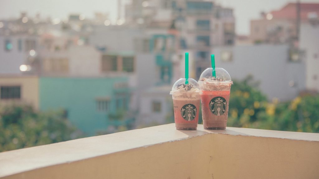
[[[92,136],[98,131],[106,131],[109,125],[122,125],[125,121],[109,120],[108,114],[120,108],[128,110],[130,89],[125,85],[115,87],[115,83],[127,82],[126,77],[41,77],[39,108],[41,111],[66,110],[70,122]],[[97,98],[109,99],[107,111],[97,110]]]

